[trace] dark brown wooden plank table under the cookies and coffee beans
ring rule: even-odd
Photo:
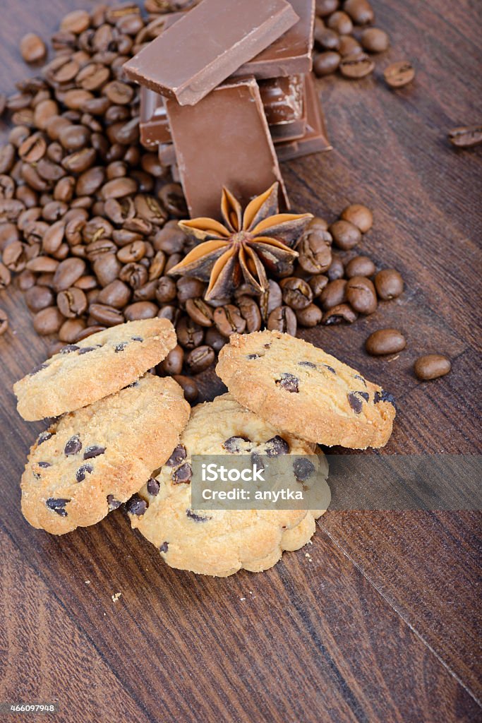
[[[69,9],[92,7],[1,5],[4,91],[30,74],[17,49],[27,30],[48,37]],[[300,210],[335,218],[348,202],[373,208],[362,250],[400,269],[407,288],[353,327],[306,338],[395,393],[388,453],[480,453],[481,149],[454,150],[446,134],[482,119],[481,6],[374,7],[392,49],[362,82],[319,82],[335,150],[283,170]],[[391,92],[382,69],[405,57],[416,81]],[[58,701],[63,723],[481,719],[477,513],[328,512],[310,557],[303,549],[227,579],[171,570],[121,510],[59,538],[34,530],[19,479],[42,425],[17,416],[11,385],[46,343],[20,293],[3,292],[0,305],[12,327],[0,339],[0,702]],[[363,351],[385,325],[408,337],[393,361]],[[447,354],[453,371],[423,384],[412,364],[430,351]],[[221,389],[205,375],[203,398]]]

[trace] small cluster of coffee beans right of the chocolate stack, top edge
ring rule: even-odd
[[[370,54],[390,47],[390,38],[379,27],[366,27],[375,20],[368,0],[317,0],[314,27],[313,69],[318,77],[340,72],[350,80],[371,74],[375,63]],[[408,85],[415,70],[408,61],[399,61],[384,70],[390,87]]]

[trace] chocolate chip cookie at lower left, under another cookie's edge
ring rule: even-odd
[[[100,521],[165,463],[188,419],[181,387],[150,374],[65,414],[30,450],[25,518],[58,535]]]

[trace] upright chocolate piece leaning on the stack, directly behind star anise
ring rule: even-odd
[[[220,85],[195,106],[169,99],[165,107],[191,217],[220,218],[223,186],[247,205],[275,181],[280,184],[280,206],[288,208],[254,78]]]

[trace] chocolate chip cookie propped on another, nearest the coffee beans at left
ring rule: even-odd
[[[119,324],[68,344],[14,385],[27,421],[59,416],[113,394],[155,367],[176,346],[167,319]]]

